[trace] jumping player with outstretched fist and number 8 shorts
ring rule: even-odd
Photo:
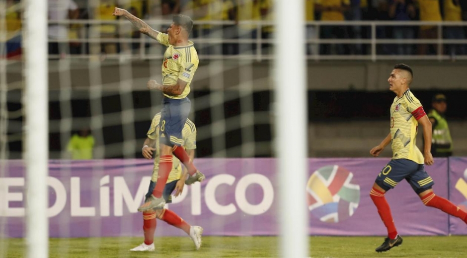
[[[193,21],[186,15],[174,15],[167,33],[161,33],[125,9],[115,8],[113,15],[125,16],[141,33],[167,47],[162,63],[162,84],[157,83],[156,80],[149,80],[147,85],[149,89],[160,90],[164,95],[159,124],[159,175],[153,194],[138,208],[138,211],[162,209],[165,204],[162,192],[172,168],[172,154],[188,170],[190,176],[185,184],[190,185],[205,179],[205,176],[193,165],[185,149],[180,147],[183,143],[182,129],[191,108],[187,95],[190,93],[190,83],[199,63],[193,42],[188,40]]]

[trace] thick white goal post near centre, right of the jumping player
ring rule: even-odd
[[[275,98],[282,257],[308,257],[307,87],[303,0],[276,0]],[[293,64],[293,65],[291,65]],[[291,139],[297,139],[292,140]],[[297,185],[298,184],[298,185]]]

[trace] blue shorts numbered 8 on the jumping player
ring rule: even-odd
[[[159,122],[160,143],[168,146],[183,145],[182,130],[190,114],[190,109],[191,101],[189,98],[163,98]]]

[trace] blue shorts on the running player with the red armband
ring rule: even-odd
[[[435,183],[426,173],[423,164],[415,163],[408,159],[392,159],[381,170],[376,178],[376,184],[385,191],[394,188],[402,179],[412,187],[417,194],[430,189]]]

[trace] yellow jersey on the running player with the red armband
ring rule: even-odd
[[[408,159],[423,164],[423,155],[415,144],[418,120],[426,115],[422,104],[407,89],[402,97],[394,98],[390,114],[392,159]]]

